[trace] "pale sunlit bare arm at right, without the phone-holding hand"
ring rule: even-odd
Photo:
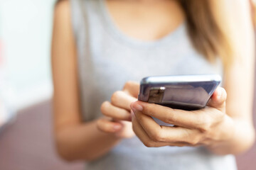
[[[214,0],[213,0],[214,1]],[[227,91],[226,113],[235,124],[230,141],[210,149],[218,154],[240,153],[250,148],[255,140],[252,123],[252,99],[255,70],[255,33],[252,27],[250,1],[214,1],[218,20],[230,36],[235,60],[225,73]]]

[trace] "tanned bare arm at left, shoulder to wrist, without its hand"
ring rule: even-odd
[[[54,13],[52,64],[55,142],[58,153],[64,159],[92,160],[108,152],[119,142],[119,138],[98,130],[96,121],[82,123],[80,118],[76,49],[69,6],[69,1],[60,1]]]

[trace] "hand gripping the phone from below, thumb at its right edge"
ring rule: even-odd
[[[233,119],[225,113],[226,96],[225,89],[218,87],[208,106],[197,111],[136,101],[131,104],[133,130],[146,147],[215,147],[230,140],[235,129]],[[160,126],[151,116],[175,126]]]

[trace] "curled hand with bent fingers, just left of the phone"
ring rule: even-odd
[[[97,120],[97,128],[120,138],[134,137],[130,104],[137,101],[138,94],[139,84],[127,81],[122,91],[112,94],[111,102],[102,103],[101,111],[105,117]]]

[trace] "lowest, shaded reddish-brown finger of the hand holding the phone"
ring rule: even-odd
[[[146,147],[164,147],[169,145],[166,142],[154,142],[151,140],[134,116],[132,118],[132,129]]]

